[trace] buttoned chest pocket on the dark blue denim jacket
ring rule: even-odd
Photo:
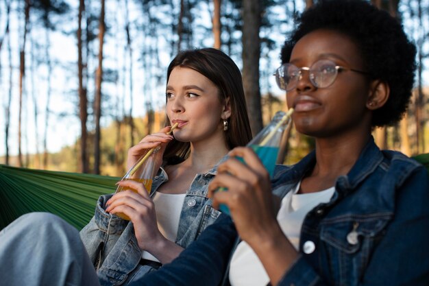
[[[321,223],[321,250],[328,259],[323,271],[335,285],[358,285],[392,216],[380,213],[337,217]]]

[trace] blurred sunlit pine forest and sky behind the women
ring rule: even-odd
[[[243,74],[252,132],[278,110],[280,47],[316,0],[0,0],[0,164],[110,176],[127,149],[164,126],[166,71],[177,51],[216,47]],[[429,152],[428,0],[371,0],[417,46],[406,116],[373,135],[385,149]],[[387,55],[389,56],[389,55]],[[291,129],[280,161],[313,142]]]

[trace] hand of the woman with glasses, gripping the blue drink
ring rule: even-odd
[[[217,175],[208,186],[213,207],[228,207],[234,224],[244,241],[259,239],[276,224],[269,173],[252,148],[236,147],[231,158],[219,165]],[[242,158],[245,164],[234,158]],[[228,191],[217,191],[225,187]]]

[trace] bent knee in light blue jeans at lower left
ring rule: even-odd
[[[1,230],[0,283],[100,285],[77,230],[50,213],[23,215]]]

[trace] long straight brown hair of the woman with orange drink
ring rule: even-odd
[[[213,48],[181,51],[169,65],[167,82],[175,67],[186,67],[201,73],[217,86],[222,103],[230,100],[231,116],[228,119],[228,130],[225,132],[228,147],[232,149],[246,145],[252,139],[252,131],[247,116],[241,73],[234,61],[222,51]],[[169,118],[166,118],[166,126],[170,126]],[[164,160],[167,160],[169,165],[186,160],[190,147],[189,142],[173,140],[167,145]]]

